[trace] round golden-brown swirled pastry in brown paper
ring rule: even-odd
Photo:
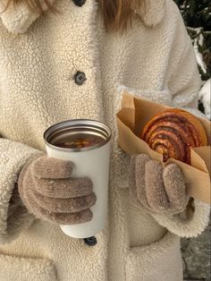
[[[190,148],[207,145],[207,136],[198,119],[180,109],[168,109],[154,116],[144,127],[143,141],[168,158],[190,164]]]

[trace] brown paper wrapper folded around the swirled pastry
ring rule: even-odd
[[[170,163],[177,164],[181,167],[184,175],[187,194],[192,198],[210,204],[211,135],[210,122],[208,120],[198,118],[207,133],[209,146],[191,149],[191,166],[173,158],[164,162],[162,154],[150,149],[148,143],[138,137],[144,125],[154,115],[164,111],[166,108],[170,107],[143,98],[135,98],[125,91],[122,96],[122,110],[117,114],[119,145],[129,155],[146,153],[151,158],[162,162],[163,166]]]

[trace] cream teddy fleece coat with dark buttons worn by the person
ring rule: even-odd
[[[55,0],[56,15],[20,4],[1,14],[0,281],[182,280],[179,236],[200,234],[209,208],[195,200],[190,217],[170,217],[136,206],[129,158],[116,144],[125,87],[166,105],[197,107],[198,69],[179,10],[173,0],[145,1],[146,13],[134,11],[123,34],[105,31],[95,0]],[[73,79],[78,71],[87,77],[81,86]],[[93,247],[13,205],[22,166],[45,151],[43,132],[72,118],[102,120],[113,131],[107,225]]]

